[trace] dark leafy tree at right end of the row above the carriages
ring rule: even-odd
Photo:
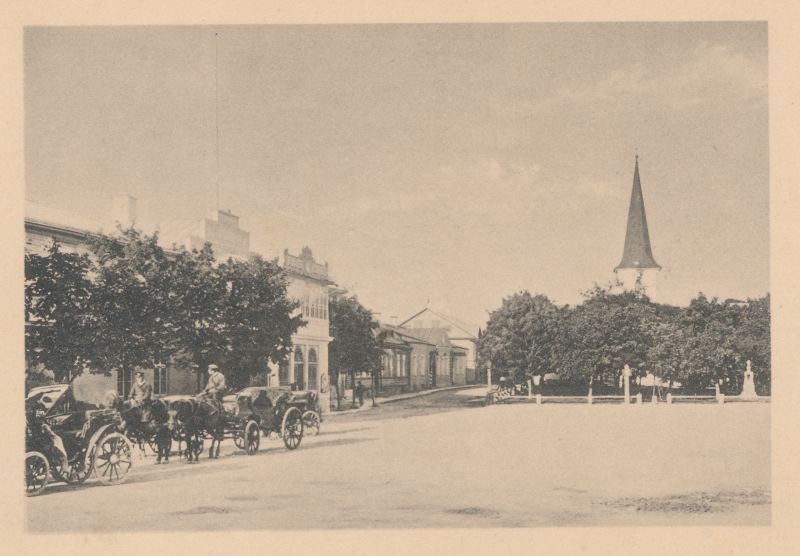
[[[292,348],[292,335],[306,322],[295,313],[299,304],[286,295],[287,278],[277,260],[252,256],[247,261],[229,259],[219,265],[223,288],[218,352],[230,387],[241,388],[251,377],[280,363]],[[214,355],[214,351],[210,351]]]

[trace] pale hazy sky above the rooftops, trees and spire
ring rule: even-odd
[[[180,230],[219,195],[254,251],[311,247],[383,319],[579,303],[622,257],[637,153],[657,300],[769,290],[765,23],[34,27],[24,48],[27,199],[105,221],[130,194]]]

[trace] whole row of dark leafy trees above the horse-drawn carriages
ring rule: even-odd
[[[277,260],[218,262],[203,249],[158,245],[131,228],[90,242],[91,256],[56,242],[25,257],[25,350],[29,369],[58,381],[89,370],[130,372],[155,364],[224,366],[233,387],[267,361],[285,361],[305,323],[287,297]]]

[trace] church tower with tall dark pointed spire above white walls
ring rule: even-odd
[[[661,267],[653,258],[650,247],[650,232],[644,211],[642,183],[639,179],[639,155],[633,171],[633,191],[628,207],[628,229],[625,232],[625,249],[622,261],[614,269],[617,279],[625,290],[644,291],[650,299],[656,295],[656,276]]]

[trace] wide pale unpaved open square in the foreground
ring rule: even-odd
[[[145,458],[125,484],[27,499],[27,529],[770,524],[768,403],[484,407],[485,392],[329,416],[295,451]]]

